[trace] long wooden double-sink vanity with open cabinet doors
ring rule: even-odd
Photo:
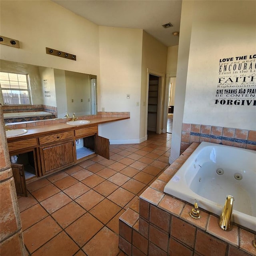
[[[28,132],[8,138],[8,150],[17,193],[26,196],[26,182],[63,170],[93,156],[109,159],[109,140],[98,136],[98,124],[129,117],[101,117],[89,124],[66,122],[27,128]]]

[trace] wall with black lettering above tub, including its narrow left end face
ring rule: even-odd
[[[220,59],[256,54],[255,16],[255,1],[182,2],[172,160],[179,155],[182,122],[256,129],[255,106],[214,104]]]

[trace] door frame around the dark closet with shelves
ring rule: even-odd
[[[149,75],[158,76],[158,100],[157,100],[157,118],[156,118],[156,133],[162,133],[163,122],[163,92],[164,92],[164,73],[157,72],[147,68],[147,89],[146,89],[146,123],[145,134],[148,134],[148,88],[149,88]]]

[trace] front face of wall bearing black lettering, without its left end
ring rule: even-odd
[[[220,89],[218,88],[220,59],[248,56],[249,60],[250,54],[256,54],[255,16],[255,1],[194,2],[183,122],[256,129],[256,106],[214,104],[216,91]],[[242,87],[246,90],[256,88],[256,59],[251,60],[254,61],[252,70],[255,78],[250,84],[252,86]],[[240,63],[242,62],[241,60]],[[242,75],[248,76],[248,73],[240,73],[238,70],[238,74],[232,74],[232,72],[224,74],[224,80]],[[233,85],[235,86],[236,83]],[[236,88],[231,87],[231,89]],[[227,99],[234,99],[234,97],[230,98],[230,94],[227,95]],[[242,98],[255,100],[256,96]]]

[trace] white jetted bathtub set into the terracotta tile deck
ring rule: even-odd
[[[233,222],[255,231],[256,151],[202,142],[164,192],[218,216],[232,195]]]

